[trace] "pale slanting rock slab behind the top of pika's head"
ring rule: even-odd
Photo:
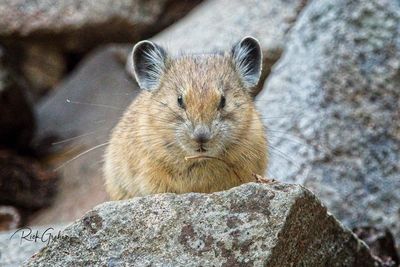
[[[286,33],[307,0],[211,0],[153,38],[174,54],[227,50],[241,38],[256,37],[263,49],[264,79],[279,59]],[[131,48],[130,48],[131,49]],[[128,61],[128,70],[130,69]]]

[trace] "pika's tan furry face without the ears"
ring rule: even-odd
[[[217,156],[240,138],[251,97],[227,56],[203,55],[172,60],[159,95],[173,112],[177,144],[188,154]]]

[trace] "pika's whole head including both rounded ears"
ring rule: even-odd
[[[142,54],[137,46],[134,70],[139,85],[152,94],[153,129],[158,127],[165,140],[174,137],[165,142],[167,149],[180,149],[187,156],[218,156],[240,142],[252,119],[250,89],[261,72],[257,41],[243,39],[225,55],[177,59],[149,42],[143,43]]]

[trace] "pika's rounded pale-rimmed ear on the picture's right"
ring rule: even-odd
[[[262,51],[254,37],[244,37],[232,48],[232,58],[246,89],[253,89],[260,80]]]

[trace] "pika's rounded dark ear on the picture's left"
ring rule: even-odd
[[[165,71],[167,53],[157,44],[141,41],[133,47],[133,73],[141,89],[152,91],[158,88]]]

